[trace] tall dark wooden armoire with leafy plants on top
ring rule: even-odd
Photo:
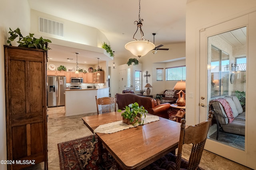
[[[8,169],[34,160],[47,170],[47,51],[4,45],[4,55]]]

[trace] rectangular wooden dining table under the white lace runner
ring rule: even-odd
[[[159,119],[115,133],[96,133],[100,162],[102,145],[124,170],[140,170],[168,152],[175,153],[180,138],[180,123],[162,117]],[[122,117],[119,112],[111,112],[82,117],[82,120],[94,133],[98,126],[120,121]]]

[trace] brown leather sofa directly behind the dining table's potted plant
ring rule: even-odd
[[[126,106],[135,102],[137,102],[139,106],[144,106],[148,113],[169,119],[167,112],[171,107],[169,103],[157,105],[156,100],[150,97],[138,96],[132,93],[116,94],[118,109],[124,110]]]

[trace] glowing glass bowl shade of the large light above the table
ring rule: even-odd
[[[146,55],[150,50],[155,48],[155,45],[149,41],[131,41],[124,46],[133,55],[142,57]]]

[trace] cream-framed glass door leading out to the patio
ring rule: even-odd
[[[256,168],[254,162],[256,155],[253,154],[256,151],[256,147],[254,146],[255,126],[250,123],[251,119],[255,120],[255,114],[248,112],[253,110],[253,106],[248,101],[255,101],[255,92],[254,95],[247,92],[254,91],[252,89],[250,91],[249,84],[255,84],[255,80],[249,81],[250,79],[248,78],[250,72],[255,73],[255,66],[250,67],[251,63],[249,63],[249,61],[255,62],[255,57],[253,55],[250,56],[250,51],[252,54],[255,54],[256,51],[255,47],[253,47],[255,42],[248,41],[248,39],[255,39],[253,37],[255,33],[249,34],[250,31],[253,32],[255,30],[255,16],[254,12],[200,31],[200,122],[207,119],[208,106],[212,99],[232,96],[235,95],[235,91],[238,91],[233,84],[233,75],[237,74],[238,76],[238,70],[236,70],[235,66],[237,65],[236,62],[239,61],[239,57],[241,57],[236,54],[240,49],[237,49],[234,44],[230,45],[231,42],[228,39],[239,36],[236,35],[238,31],[243,32],[246,37],[245,44],[242,45],[245,50],[242,56],[245,56],[247,61],[245,64],[246,71],[240,72],[240,82],[238,82],[246,92],[244,148],[237,148],[227,145],[227,143],[221,143],[219,140],[211,139],[210,133],[212,131],[209,131],[204,149],[250,168]],[[249,19],[251,19],[251,22]],[[250,38],[248,35],[250,35]],[[229,137],[226,137],[226,140],[229,140]]]

